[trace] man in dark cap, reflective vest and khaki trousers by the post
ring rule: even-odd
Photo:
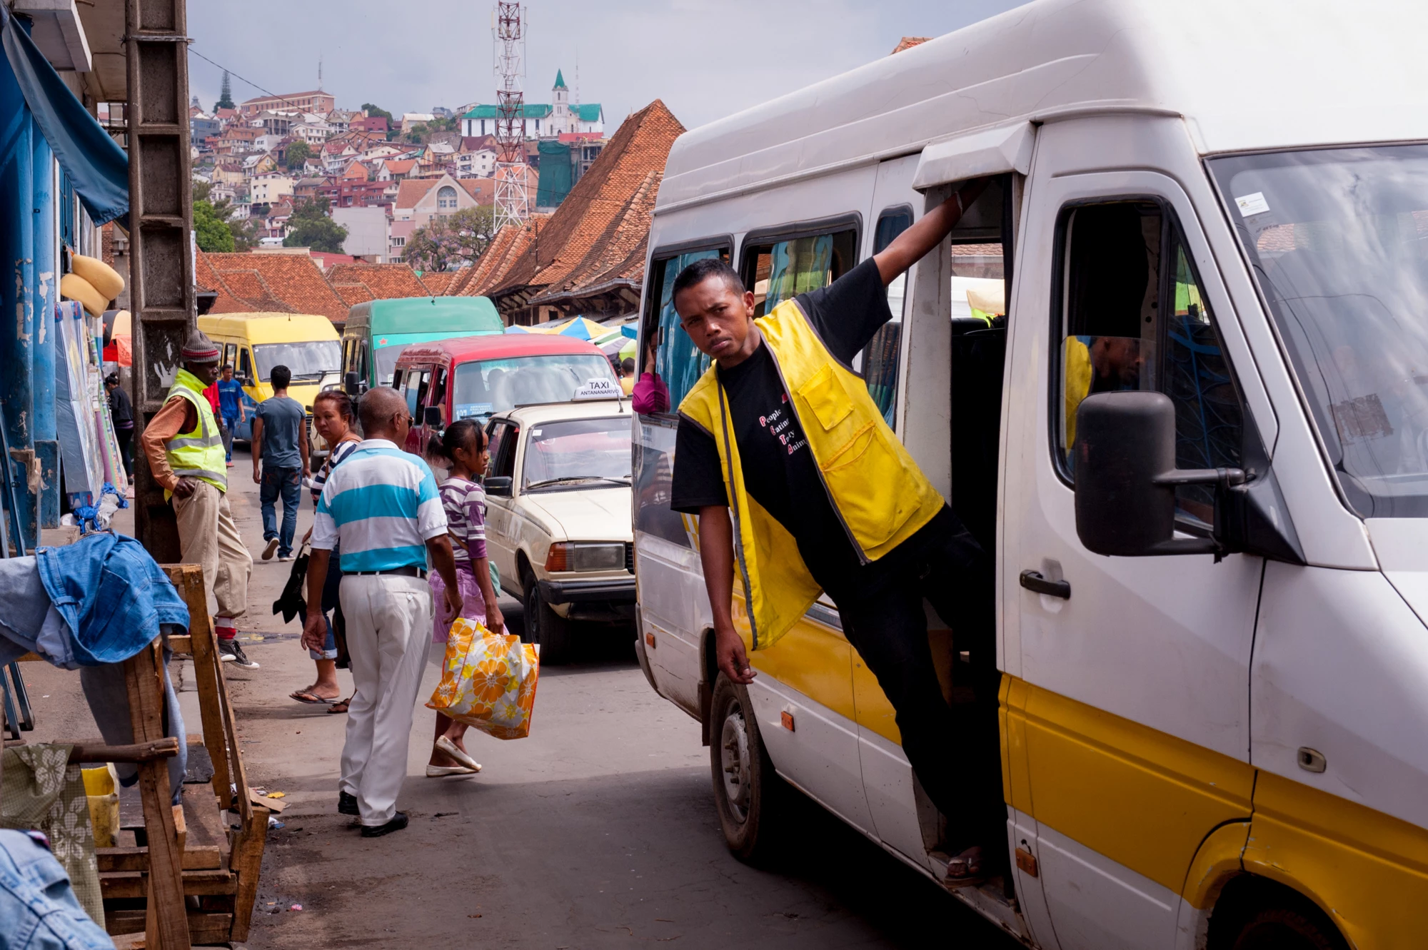
[[[234,639],[248,599],[253,555],[238,536],[228,506],[228,466],[223,431],[203,391],[218,378],[218,347],[200,331],[183,345],[164,407],[144,427],[140,442],[154,481],[174,506],[184,562],[203,565],[203,586],[218,603],[213,618],[223,660],[257,669]]]

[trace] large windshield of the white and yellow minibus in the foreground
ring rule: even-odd
[[[1428,518],[1428,145],[1210,168],[1365,518]]]

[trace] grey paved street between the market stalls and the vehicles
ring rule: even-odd
[[[257,486],[246,454],[234,461],[234,515],[260,552]],[[300,536],[310,521],[307,509]],[[434,713],[418,708],[398,800],[411,826],[363,840],[334,810],[346,717],[288,699],[313,675],[297,622],[270,613],[288,568],[254,565],[240,626],[261,669],[226,668],[250,782],[288,802],[268,836],[250,950],[1017,946],[813,806],[775,866],[731,857],[698,727],[648,688],[625,636],[543,673],[528,739],[468,733],[480,776],[421,777]],[[518,605],[504,609],[518,626]],[[66,692],[73,675],[30,670],[41,732],[93,732]]]

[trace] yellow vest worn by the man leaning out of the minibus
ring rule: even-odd
[[[877,561],[930,522],[945,504],[942,495],[883,421],[864,381],[828,352],[795,301],[780,304],[754,322],[778,368],[834,512],[863,562]],[[717,367],[694,384],[680,414],[718,445],[753,648],[764,649],[813,606],[821,588],[794,536],[744,491],[728,397]]]

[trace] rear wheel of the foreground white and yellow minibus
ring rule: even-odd
[[[730,782],[727,767],[738,769],[728,773]],[[775,829],[785,820],[788,789],[764,749],[748,689],[724,673],[714,680],[710,702],[710,773],[728,850],[748,863],[768,857],[777,844]],[[731,787],[740,792],[731,796]]]

